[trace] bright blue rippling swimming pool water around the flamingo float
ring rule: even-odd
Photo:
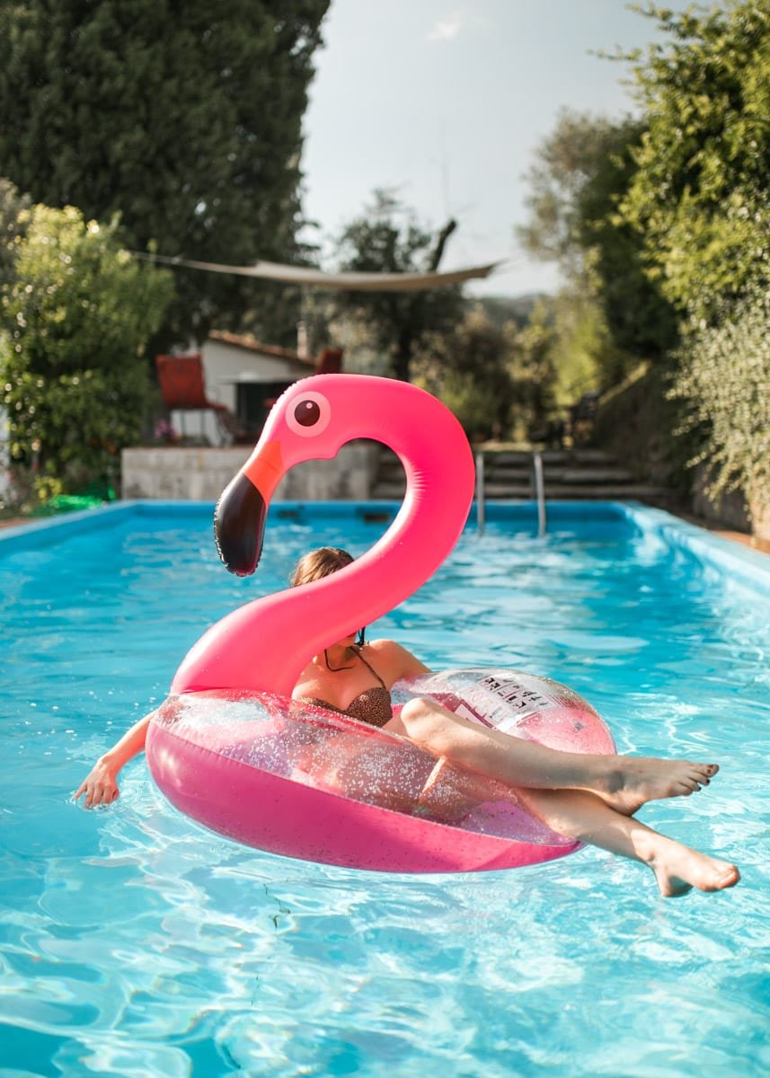
[[[565,681],[620,751],[719,760],[643,818],[734,859],[729,893],[666,901],[590,849],[457,876],[290,861],[177,814],[141,761],[109,810],[71,803],[206,624],[308,547],[360,553],[394,511],[276,505],[248,580],[210,506],[0,536],[0,1075],[770,1070],[770,573],[664,513],[556,505],[539,540],[532,507],[491,506],[376,633],[437,668]]]

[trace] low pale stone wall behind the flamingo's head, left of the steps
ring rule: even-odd
[[[123,450],[124,498],[216,501],[249,453],[237,448],[157,446]],[[273,501],[366,501],[376,469],[371,442],[343,445],[333,460],[308,460],[281,480]]]

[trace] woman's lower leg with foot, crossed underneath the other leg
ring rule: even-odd
[[[684,895],[692,887],[721,890],[741,879],[734,865],[659,834],[586,790],[530,789],[522,790],[520,798],[559,834],[648,865],[665,897]]]

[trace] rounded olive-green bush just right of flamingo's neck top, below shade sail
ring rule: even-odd
[[[496,327],[477,307],[427,345],[415,363],[418,384],[454,412],[470,438],[507,436],[514,399],[510,327]]]

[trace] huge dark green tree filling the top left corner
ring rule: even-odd
[[[302,116],[329,0],[0,5],[0,175],[128,246],[208,262],[298,252]],[[259,286],[177,272],[169,331],[237,323]],[[264,294],[264,293],[263,293]]]

